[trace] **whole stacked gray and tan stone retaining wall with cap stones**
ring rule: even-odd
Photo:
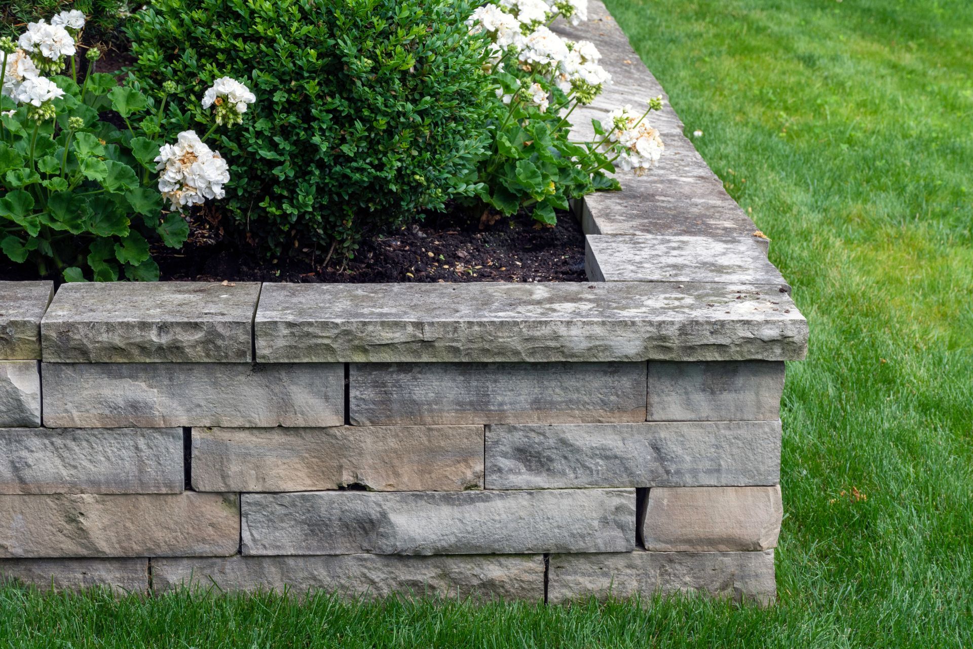
[[[658,94],[590,13],[600,101]],[[0,282],[0,573],[770,601],[807,322],[659,126],[658,169],[578,205],[592,283]]]

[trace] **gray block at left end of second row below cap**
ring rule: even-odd
[[[178,428],[0,428],[0,493],[179,493],[183,483]]]

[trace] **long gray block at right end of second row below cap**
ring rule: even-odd
[[[486,427],[486,488],[776,485],[779,421]]]

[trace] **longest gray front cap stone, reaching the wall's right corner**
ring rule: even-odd
[[[777,285],[265,284],[254,335],[271,363],[798,360],[808,323]]]

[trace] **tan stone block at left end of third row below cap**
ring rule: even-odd
[[[227,557],[235,493],[0,495],[0,558]]]

